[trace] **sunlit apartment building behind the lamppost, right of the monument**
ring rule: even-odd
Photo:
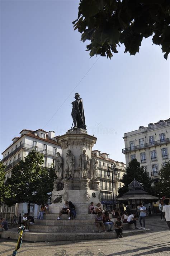
[[[118,188],[123,186],[123,183],[120,180],[126,172],[126,164],[110,159],[109,154],[101,153],[99,150],[93,150],[92,153],[97,154],[97,177],[100,180],[99,188],[101,191],[102,201],[112,201],[112,174],[110,173],[110,177],[107,176],[108,167],[111,167],[111,164],[116,164],[116,168],[118,169],[118,174],[116,176],[113,175],[113,191],[114,199],[116,199],[118,195]]]

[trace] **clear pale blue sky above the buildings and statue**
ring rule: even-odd
[[[125,132],[170,117],[169,58],[151,37],[136,56],[118,49],[91,57],[74,31],[77,0],[1,0],[0,153],[23,129],[71,128],[74,94],[83,99],[93,150],[125,162]],[[1,157],[2,158],[2,157]]]

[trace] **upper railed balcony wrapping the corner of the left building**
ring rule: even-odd
[[[42,154],[45,154],[45,155],[52,155],[53,157],[56,157],[56,153],[53,152],[53,151],[42,149],[42,148],[38,148],[37,146],[33,147],[32,145],[23,143],[18,148],[13,150],[13,152],[11,152],[6,157],[4,157],[2,161],[5,162],[8,158],[10,158],[12,155],[14,155],[16,152],[18,152],[22,148],[25,148],[25,149],[28,149],[28,150],[32,150],[34,148],[39,153],[42,153]]]

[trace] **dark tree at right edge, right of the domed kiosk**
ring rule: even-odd
[[[165,166],[161,166],[160,180],[155,188],[159,198],[163,196],[170,197],[170,162],[167,162]]]

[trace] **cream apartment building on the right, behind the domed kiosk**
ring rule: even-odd
[[[170,160],[170,118],[147,127],[140,126],[138,130],[125,133],[123,139],[126,165],[136,158],[153,178],[154,185],[159,180],[161,166]]]

